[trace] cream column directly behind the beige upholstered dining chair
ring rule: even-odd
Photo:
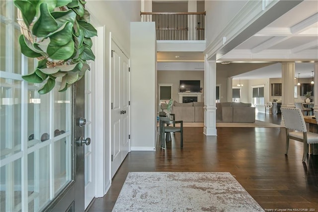
[[[282,63],[282,107],[295,107],[295,63]]]

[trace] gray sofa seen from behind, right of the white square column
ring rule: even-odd
[[[255,122],[255,107],[248,103],[217,103],[217,122]]]

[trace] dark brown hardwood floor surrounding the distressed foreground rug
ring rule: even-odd
[[[281,116],[258,113],[256,119],[280,124]],[[303,143],[290,141],[285,156],[284,128],[218,127],[205,136],[202,127],[186,127],[166,150],[130,152],[103,198],[88,212],[110,212],[128,172],[230,172],[263,209],[318,211],[318,155],[302,163]]]

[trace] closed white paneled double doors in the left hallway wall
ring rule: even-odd
[[[130,151],[129,60],[112,41],[111,59],[111,177]]]

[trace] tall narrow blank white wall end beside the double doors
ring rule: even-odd
[[[154,151],[157,135],[155,22],[131,22],[131,150]]]

